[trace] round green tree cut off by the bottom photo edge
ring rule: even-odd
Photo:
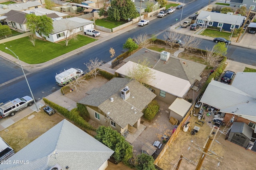
[[[154,158],[144,153],[137,156],[135,167],[137,170],[156,170]]]

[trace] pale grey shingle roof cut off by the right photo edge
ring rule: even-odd
[[[232,85],[217,81],[210,82],[200,102],[216,107],[221,112],[250,116],[255,119],[255,83],[255,72],[238,72]]]

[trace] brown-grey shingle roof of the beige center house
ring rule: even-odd
[[[124,101],[120,92],[126,86],[130,88],[130,97]],[[128,124],[133,126],[142,117],[141,110],[156,97],[148,88],[128,78],[113,78],[87,94],[90,95],[78,103],[98,107],[122,128]],[[110,98],[114,98],[114,102],[111,102]],[[110,113],[107,114],[108,112]]]

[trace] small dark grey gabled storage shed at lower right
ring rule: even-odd
[[[235,143],[241,147],[246,148],[252,139],[253,130],[250,126],[244,122],[234,122],[230,133],[228,135],[228,141]]]

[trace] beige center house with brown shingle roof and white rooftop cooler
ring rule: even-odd
[[[142,111],[156,97],[148,88],[128,78],[113,78],[86,94],[78,103],[86,106],[90,118],[111,126],[124,137],[129,131],[134,133],[144,127],[140,124]]]

